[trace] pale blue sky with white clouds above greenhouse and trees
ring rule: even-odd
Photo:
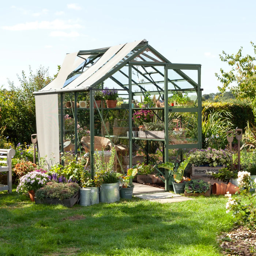
[[[219,54],[253,54],[256,1],[4,1],[0,8],[0,86],[40,66],[57,73],[65,54],[147,39],[172,63],[201,64],[203,94],[230,68]]]

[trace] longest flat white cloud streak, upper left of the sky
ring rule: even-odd
[[[81,28],[82,26],[78,23],[72,24],[72,20],[65,20],[56,19],[53,21],[34,21],[34,22],[26,22],[26,23],[19,23],[13,26],[3,26],[2,29],[4,30],[11,30],[11,31],[22,31],[22,30],[37,30],[37,29],[74,29],[74,28]]]

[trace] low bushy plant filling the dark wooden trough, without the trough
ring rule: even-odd
[[[57,198],[59,200],[72,197],[79,190],[77,183],[48,182],[44,187],[35,192],[37,199]]]

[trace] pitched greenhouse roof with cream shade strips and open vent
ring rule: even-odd
[[[148,45],[146,39],[101,49],[80,50],[79,52],[66,54],[57,77],[35,94],[85,91],[89,87],[97,86],[107,78],[128,90],[128,80],[124,82],[119,79],[120,76],[118,78],[114,76],[114,73],[118,71],[125,79],[129,78],[128,69],[126,71],[122,69],[128,65],[132,65],[133,71],[143,78],[143,83],[132,79],[132,84],[136,84],[140,89],[143,89],[142,85],[151,83],[160,89],[158,84],[164,82],[164,72],[159,72],[159,69],[155,67],[166,64],[172,63]],[[144,66],[142,71],[138,69],[138,65]],[[181,89],[180,86],[177,86],[177,82],[182,81],[188,82],[193,88],[197,87],[197,83],[180,70],[182,65],[188,64],[172,65],[174,65],[173,69],[176,74],[179,75],[173,80],[168,79],[168,82],[173,84],[174,89]],[[189,65],[192,69],[198,68],[196,64]],[[151,67],[151,70],[149,71],[147,67]],[[160,80],[153,79],[152,76],[156,73],[160,74]]]

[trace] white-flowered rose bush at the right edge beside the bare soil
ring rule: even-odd
[[[226,213],[232,211],[233,217],[236,217],[235,223],[238,225],[247,225],[250,229],[256,229],[256,193],[252,194],[250,192],[250,189],[255,185],[255,183],[252,182],[251,174],[248,172],[238,172],[237,182],[239,185],[238,193],[240,193],[242,197],[247,198],[248,203],[246,205],[242,204],[242,201],[244,201],[242,197],[231,197],[231,194],[227,192],[225,195],[228,197]]]

